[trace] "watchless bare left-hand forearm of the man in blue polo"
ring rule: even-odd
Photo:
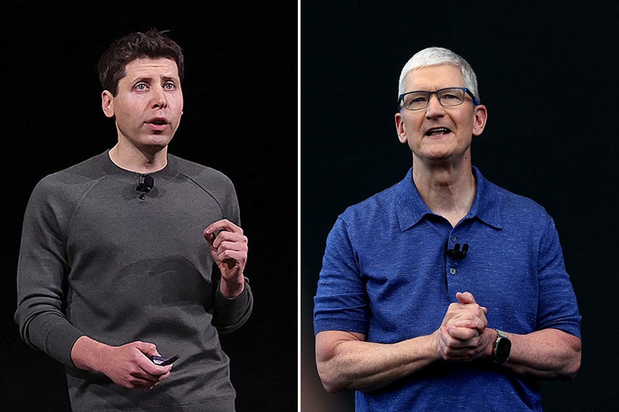
[[[329,332],[317,336],[316,365],[323,386],[331,393],[378,389],[439,359],[432,349],[431,335],[393,344],[343,340],[330,345],[325,342],[330,339]],[[321,345],[330,349],[324,350]]]

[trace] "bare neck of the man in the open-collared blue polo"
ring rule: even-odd
[[[473,205],[477,183],[470,159],[448,165],[413,161],[413,181],[428,208],[449,220],[452,226],[457,225]]]

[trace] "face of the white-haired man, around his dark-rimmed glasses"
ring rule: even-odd
[[[406,76],[405,91],[436,91],[464,87],[464,77],[455,65],[423,67]],[[486,126],[486,107],[475,106],[469,95],[459,106],[443,107],[431,95],[428,107],[395,115],[398,138],[413,151],[413,161],[450,161],[469,156],[472,136]]]

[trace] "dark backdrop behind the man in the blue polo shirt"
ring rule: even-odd
[[[393,120],[398,76],[428,46],[452,49],[477,73],[488,125],[473,139],[473,164],[556,221],[583,315],[583,364],[575,380],[543,383],[545,411],[609,410],[619,377],[616,5],[484,3],[301,4],[303,411],[353,409],[351,393],[327,395],[318,381],[312,297],[338,214],[411,167]]]

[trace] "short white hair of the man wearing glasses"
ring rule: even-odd
[[[468,62],[461,56],[455,54],[449,49],[444,47],[428,47],[415,53],[411,59],[406,62],[406,65],[402,68],[400,73],[400,87],[398,89],[398,95],[406,93],[404,90],[404,80],[406,76],[415,69],[421,69],[422,67],[432,67],[439,65],[454,65],[459,67],[464,77],[464,87],[470,90],[477,99],[479,99],[479,93],[477,91],[477,76],[473,67],[470,67]]]

